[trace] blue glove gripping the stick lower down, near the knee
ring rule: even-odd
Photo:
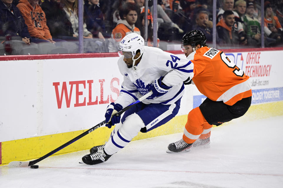
[[[114,115],[117,112],[119,112],[120,110],[122,110],[123,107],[120,104],[115,104],[115,103],[110,103],[110,105],[107,106],[107,110],[105,113],[105,121],[106,121],[106,127],[108,127],[109,129],[115,125],[116,123],[120,122],[121,119],[121,115]],[[114,115],[114,116],[113,116]]]

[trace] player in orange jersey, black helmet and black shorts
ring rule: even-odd
[[[207,98],[190,111],[181,140],[168,145],[168,153],[190,151],[192,147],[209,146],[213,125],[244,115],[251,105],[249,76],[223,53],[208,48],[202,31],[187,32],[182,38],[182,51],[194,64],[193,83]]]

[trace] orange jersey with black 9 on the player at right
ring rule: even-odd
[[[224,52],[202,47],[188,57],[194,64],[192,81],[206,97],[233,105],[252,95],[249,76],[239,69]]]

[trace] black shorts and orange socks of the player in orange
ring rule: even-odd
[[[224,122],[244,115],[251,105],[251,97],[243,98],[233,105],[226,105],[223,101],[213,101],[206,98],[203,103],[190,111],[184,129],[183,140],[188,144],[198,138],[210,137],[213,125],[221,125]]]

